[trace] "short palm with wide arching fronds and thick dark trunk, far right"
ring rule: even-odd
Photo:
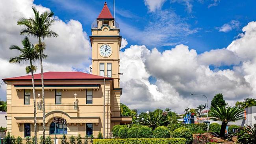
[[[244,109],[239,107],[212,107],[211,108],[211,120],[221,121],[221,132],[220,136],[223,137],[225,134],[225,129],[228,122],[233,122],[236,120],[243,119]]]

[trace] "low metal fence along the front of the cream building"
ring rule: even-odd
[[[77,137],[75,137],[74,141],[70,140],[70,137],[63,138],[50,138],[50,140],[47,140],[46,138],[46,144],[93,144],[93,140],[97,138],[85,138],[81,137],[80,141],[78,141]],[[34,144],[33,138],[2,138],[1,144]],[[40,138],[37,139],[37,144],[43,144],[43,142],[40,140]]]

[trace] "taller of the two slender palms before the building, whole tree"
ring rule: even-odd
[[[39,15],[39,11],[35,7],[32,7],[35,18],[20,18],[17,22],[18,25],[24,26],[20,31],[21,35],[29,35],[38,38],[38,44],[35,49],[39,52],[40,67],[41,67],[41,81],[42,81],[42,99],[43,99],[43,144],[45,144],[45,89],[44,89],[44,77],[43,77],[43,50],[45,44],[42,39],[47,37],[58,37],[58,34],[50,30],[50,26],[54,24],[52,18],[54,13],[51,11],[45,11]]]

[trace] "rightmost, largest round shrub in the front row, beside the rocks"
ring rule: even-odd
[[[186,127],[180,127],[173,131],[173,138],[185,138],[186,144],[191,144],[193,141],[193,135]]]

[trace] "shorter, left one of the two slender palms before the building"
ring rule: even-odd
[[[34,46],[31,45],[31,42],[29,41],[28,37],[25,37],[22,42],[23,48],[20,48],[17,45],[11,45],[10,50],[19,50],[20,55],[17,57],[11,57],[9,59],[9,63],[20,63],[29,61],[30,66],[26,66],[26,73],[29,74],[31,72],[32,76],[32,87],[33,87],[33,103],[34,103],[34,125],[35,125],[35,144],[37,144],[37,124],[36,124],[36,107],[35,107],[35,83],[34,83],[34,72],[37,69],[36,66],[32,64],[33,61],[36,61],[39,59],[39,54],[35,51]],[[41,55],[43,58],[46,58],[47,55]]]

